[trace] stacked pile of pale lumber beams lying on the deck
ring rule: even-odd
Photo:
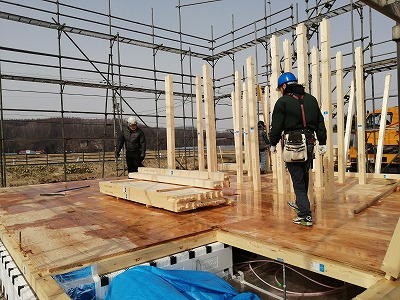
[[[222,190],[229,176],[221,172],[139,168],[128,177],[100,182],[100,192],[173,212],[230,202]]]

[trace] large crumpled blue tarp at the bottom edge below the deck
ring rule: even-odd
[[[217,275],[203,271],[131,268],[111,281],[106,300],[260,300],[239,293]]]

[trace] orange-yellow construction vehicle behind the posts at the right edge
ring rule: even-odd
[[[375,171],[380,122],[381,109],[367,113],[365,123],[365,142],[367,152],[367,171],[370,173]],[[354,146],[351,146],[349,149],[347,170],[350,172],[357,171],[357,149]],[[389,107],[387,109],[381,173],[400,174],[398,106]]]

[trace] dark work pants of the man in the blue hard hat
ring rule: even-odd
[[[300,210],[297,215],[301,218],[311,216],[310,200],[308,199],[308,171],[311,165],[307,161],[286,163],[286,166],[292,178],[296,204]]]

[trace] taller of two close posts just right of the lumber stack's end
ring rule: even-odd
[[[243,183],[243,135],[242,135],[242,75],[239,71],[235,72],[235,92],[233,100],[233,130],[235,139],[236,155],[236,181]]]

